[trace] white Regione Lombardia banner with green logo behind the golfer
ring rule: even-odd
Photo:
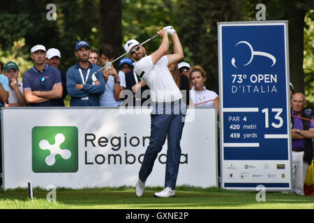
[[[218,185],[216,108],[189,109],[177,185]],[[133,114],[128,114],[133,113]],[[134,186],[149,145],[149,110],[2,109],[3,188]],[[167,141],[148,186],[163,186]]]

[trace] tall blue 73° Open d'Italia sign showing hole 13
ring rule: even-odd
[[[287,22],[218,23],[223,187],[289,190]]]

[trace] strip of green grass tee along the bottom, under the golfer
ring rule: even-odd
[[[0,209],[314,209],[314,196],[267,192],[266,201],[257,202],[257,192],[223,190],[217,187],[177,187],[176,197],[155,198],[161,187],[147,187],[143,197],[134,188],[94,188],[70,190],[57,188],[57,202],[46,200],[50,191],[35,188],[34,199],[28,190],[0,191]]]

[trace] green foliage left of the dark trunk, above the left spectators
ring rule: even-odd
[[[33,45],[54,47],[61,52],[61,70],[67,70],[77,61],[74,56],[77,40],[87,40],[98,48],[98,1],[56,0],[53,3],[57,6],[57,21],[47,20],[48,3],[51,1],[1,1],[0,49],[13,53],[10,47],[24,38],[22,52],[30,61],[29,50]]]

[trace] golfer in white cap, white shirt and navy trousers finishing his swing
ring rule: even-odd
[[[139,179],[135,185],[137,197],[142,197],[145,190],[146,180],[151,174],[158,153],[165,144],[167,137],[167,162],[165,170],[165,189],[156,192],[155,197],[174,197],[181,157],[181,135],[184,128],[184,105],[181,91],[174,82],[167,68],[168,64],[184,58],[177,32],[172,26],[164,27],[157,34],[163,39],[159,48],[147,56],[146,50],[137,40],[128,40],[124,49],[135,61],[134,70],[151,89],[151,100],[154,104],[151,113],[151,136],[150,143],[145,152]],[[168,34],[172,37],[174,54],[165,56],[169,49]]]

